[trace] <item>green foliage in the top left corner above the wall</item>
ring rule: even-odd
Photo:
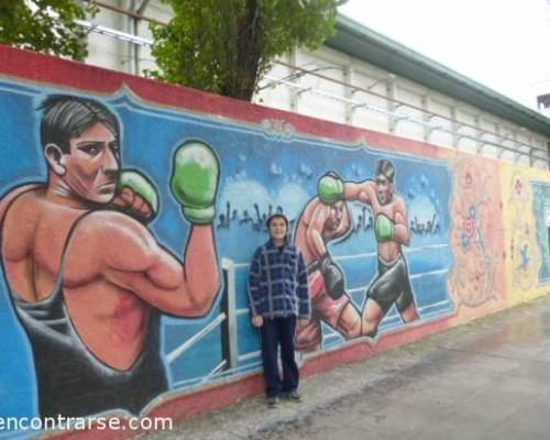
[[[82,61],[87,31],[75,20],[96,12],[94,4],[76,0],[0,1],[0,43]]]

